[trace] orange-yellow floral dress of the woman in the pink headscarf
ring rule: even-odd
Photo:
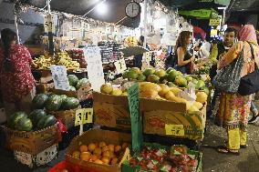
[[[254,45],[255,62],[259,64],[259,48]],[[239,57],[243,48],[243,68],[241,76],[254,72],[254,59],[251,54],[251,48],[247,42],[238,42],[228,53],[219,61],[218,68],[230,65],[233,60]],[[231,79],[231,78],[230,78]],[[220,97],[219,111],[216,116],[216,124],[226,129],[240,128],[246,131],[248,116],[250,114],[252,96],[240,96],[239,94],[229,94],[222,92]]]

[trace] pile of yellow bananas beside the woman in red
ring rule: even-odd
[[[57,53],[57,55],[53,57],[39,56],[33,60],[32,68],[49,69],[52,65],[66,66],[67,69],[75,69],[80,67],[78,61],[72,60],[72,58],[68,56],[67,52],[61,52]]]

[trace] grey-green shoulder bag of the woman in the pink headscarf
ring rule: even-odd
[[[214,77],[214,86],[226,93],[236,93],[240,84],[242,67],[243,49],[230,65],[224,66]]]

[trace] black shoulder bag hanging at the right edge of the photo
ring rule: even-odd
[[[251,47],[252,57],[254,58],[254,48],[250,43],[249,46]],[[254,94],[257,91],[259,91],[259,69],[254,59],[254,72],[249,73],[240,79],[238,93],[241,96],[247,96]]]

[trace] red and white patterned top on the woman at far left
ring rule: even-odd
[[[12,46],[10,48],[10,59],[15,70],[6,72],[4,50],[0,48],[1,92],[6,102],[15,103],[30,93],[35,86],[35,79],[30,68],[32,58],[26,46]]]

